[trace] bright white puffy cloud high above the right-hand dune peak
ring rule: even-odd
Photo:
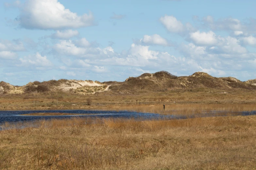
[[[198,45],[208,46],[218,43],[217,36],[212,31],[208,33],[196,31],[190,34],[190,38]]]

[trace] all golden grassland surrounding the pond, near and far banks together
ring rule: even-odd
[[[2,130],[0,169],[256,169],[256,115],[236,115],[256,110],[255,92],[194,88],[1,95],[0,110],[129,110],[196,118],[71,118]],[[201,117],[212,110],[226,112]]]

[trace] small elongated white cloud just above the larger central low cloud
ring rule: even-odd
[[[154,35],[144,35],[143,39],[141,39],[146,45],[161,45],[161,46],[168,46],[168,42],[166,39],[162,38],[158,34]]]

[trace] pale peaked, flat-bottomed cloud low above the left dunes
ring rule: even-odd
[[[46,56],[42,56],[38,52],[36,55],[20,58],[20,61],[21,64],[19,66],[36,66],[38,68],[53,66],[52,62]]]

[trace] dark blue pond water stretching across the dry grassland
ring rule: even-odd
[[[22,114],[29,113],[74,113],[79,115],[63,115],[63,116],[22,116]],[[162,115],[155,113],[137,113],[130,111],[102,111],[102,110],[20,110],[20,111],[0,111],[0,130],[1,125],[6,122],[13,125],[18,125],[24,122],[49,120],[49,119],[69,119],[74,117],[79,118],[125,118],[135,120],[152,120],[152,119],[186,119],[193,117],[209,117],[209,116],[232,116],[232,115],[255,115],[256,111],[244,111],[244,112],[227,112],[227,111],[207,111],[200,115]]]

